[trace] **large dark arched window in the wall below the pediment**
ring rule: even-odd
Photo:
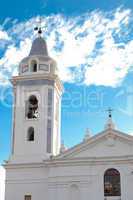
[[[116,169],[108,169],[104,174],[104,196],[121,196],[120,173]]]

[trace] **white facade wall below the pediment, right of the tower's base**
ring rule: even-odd
[[[121,175],[121,199],[133,199],[133,175],[132,164],[124,163],[102,163],[77,166],[59,166],[49,171],[49,199],[48,200],[68,200],[71,186],[79,188],[80,200],[104,200],[104,173],[107,169],[115,168]],[[114,198],[113,200],[116,200]]]

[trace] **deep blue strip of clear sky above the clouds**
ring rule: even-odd
[[[7,6],[8,5],[8,6]],[[131,0],[34,0],[34,1],[3,1],[0,7],[1,19],[7,17],[26,20],[36,15],[50,15],[51,13],[63,13],[69,15],[79,15],[86,11],[100,9],[109,11],[119,6],[132,8]]]

